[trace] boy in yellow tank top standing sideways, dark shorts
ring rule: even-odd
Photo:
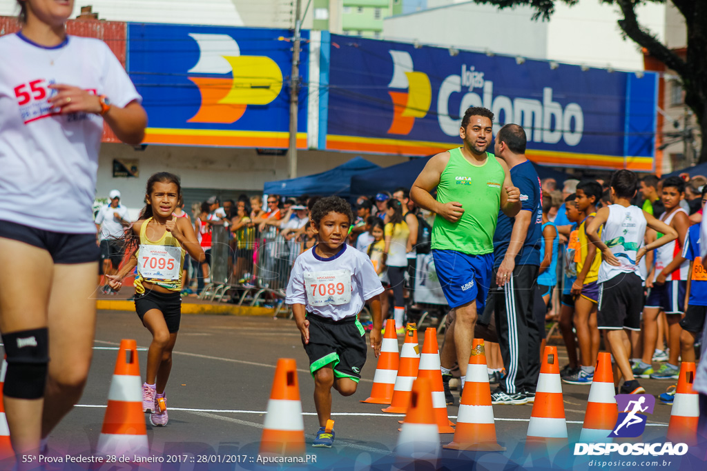
[[[562,378],[562,381],[570,384],[591,384],[600,343],[597,330],[597,278],[602,259],[596,247],[590,244],[587,238],[587,226],[596,215],[597,201],[602,197],[602,186],[593,180],[580,181],[576,194],[577,209],[587,215],[578,227],[579,248],[575,251],[577,279],[572,284],[572,294],[577,296],[575,329],[579,340],[581,366],[579,371]]]

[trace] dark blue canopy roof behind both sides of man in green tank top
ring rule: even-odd
[[[373,172],[356,174],[351,177],[351,195],[355,198],[358,195],[374,195],[379,191],[395,191],[400,186],[410,188],[431,158],[432,156],[430,155],[385,167],[384,169],[374,170]],[[538,165],[535,162],[532,162],[532,165],[535,167],[540,179],[554,178],[557,181],[558,188],[562,188],[564,181],[571,178],[571,175],[558,172],[544,165]]]

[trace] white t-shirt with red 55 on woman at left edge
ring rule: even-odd
[[[57,114],[50,84],[141,100],[105,42],[68,36],[54,48],[19,33],[0,37],[0,220],[71,234],[95,233],[93,197],[103,118]],[[53,65],[51,64],[53,62]],[[51,210],[48,210],[51,208]]]

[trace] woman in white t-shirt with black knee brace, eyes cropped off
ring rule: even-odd
[[[147,117],[105,42],[66,34],[73,0],[18,6],[21,31],[0,37],[0,332],[5,413],[25,470],[88,376],[103,124],[138,145]]]

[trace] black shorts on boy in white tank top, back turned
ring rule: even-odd
[[[599,284],[597,325],[604,330],[641,330],[643,280],[636,273],[619,273]]]

